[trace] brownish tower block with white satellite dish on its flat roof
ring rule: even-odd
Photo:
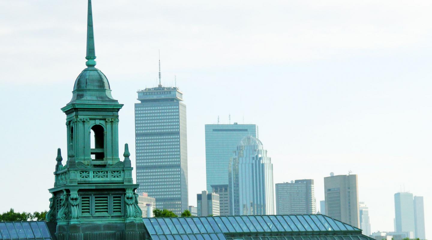
[[[327,216],[360,227],[357,175],[324,177],[324,196]]]

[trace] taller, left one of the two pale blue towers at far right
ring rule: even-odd
[[[416,233],[412,193],[394,194],[394,216],[396,220],[395,232]]]

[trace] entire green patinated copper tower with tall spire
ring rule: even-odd
[[[119,158],[118,111],[123,104],[111,96],[108,79],[95,68],[95,58],[92,3],[88,0],[87,68],[75,80],[71,101],[61,109],[66,114],[67,162],[62,164],[59,148],[54,187],[49,189],[52,197],[46,220],[57,224],[59,239],[70,239],[70,225],[143,224],[127,144],[124,161]],[[79,234],[83,234],[81,228]]]

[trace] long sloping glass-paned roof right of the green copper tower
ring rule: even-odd
[[[324,215],[143,218],[152,240],[372,240]],[[253,238],[253,239],[252,239]]]

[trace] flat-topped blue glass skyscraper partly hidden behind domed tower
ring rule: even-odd
[[[206,124],[207,191],[212,185],[228,185],[229,159],[245,136],[258,137],[254,124]]]

